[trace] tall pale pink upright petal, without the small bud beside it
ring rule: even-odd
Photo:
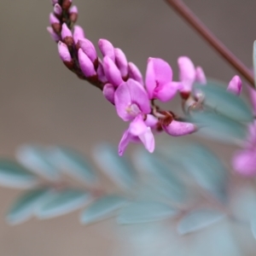
[[[179,57],[177,59],[177,65],[179,67],[179,79],[183,84],[181,91],[189,92],[192,90],[192,86],[195,82],[195,66],[186,56]]]

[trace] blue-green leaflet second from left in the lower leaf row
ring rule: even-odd
[[[49,195],[44,203],[38,207],[36,216],[38,218],[54,218],[73,212],[91,200],[88,193],[77,189],[67,189]]]

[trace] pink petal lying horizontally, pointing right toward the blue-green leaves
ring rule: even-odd
[[[163,125],[163,129],[173,137],[179,137],[196,131],[196,126],[191,123],[172,120],[170,125]]]

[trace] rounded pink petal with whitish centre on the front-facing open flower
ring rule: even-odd
[[[148,95],[142,85],[133,79],[120,84],[114,94],[116,111],[121,119],[129,121],[139,113],[150,113]]]

